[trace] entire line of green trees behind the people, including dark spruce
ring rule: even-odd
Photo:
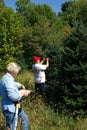
[[[17,0],[16,11],[0,0],[0,71],[16,61],[31,70],[34,55],[49,57],[48,102],[55,110],[87,115],[87,0],[46,4]]]

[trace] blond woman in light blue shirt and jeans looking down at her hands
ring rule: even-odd
[[[7,72],[0,82],[0,94],[2,96],[2,112],[6,118],[6,130],[13,129],[16,103],[22,97],[26,97],[31,90],[25,90],[25,86],[15,82],[14,77],[18,74],[20,66],[15,62],[7,65]],[[22,90],[18,90],[21,88]],[[19,109],[18,118],[22,119],[22,130],[28,130],[28,116],[23,109]]]

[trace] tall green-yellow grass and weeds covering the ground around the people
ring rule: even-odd
[[[27,89],[34,91],[31,72],[19,74],[16,80],[24,84]],[[35,92],[23,99],[23,109],[29,116],[29,130],[87,130],[87,118],[73,119],[68,115],[55,113],[44,102],[44,98]],[[1,111],[0,130],[5,130],[5,118]],[[20,123],[18,123],[17,130],[20,130]]]

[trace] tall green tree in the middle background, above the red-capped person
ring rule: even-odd
[[[49,13],[46,13],[47,10]],[[30,69],[34,55],[46,56],[45,49],[48,45],[53,41],[59,41],[59,29],[62,28],[62,24],[46,5],[29,4],[24,12],[23,54]]]

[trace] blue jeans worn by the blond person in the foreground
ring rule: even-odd
[[[9,112],[8,110],[5,110],[3,112],[3,114],[6,117],[6,128],[11,129],[11,127],[13,125],[15,114],[12,113],[12,112]],[[28,130],[29,126],[28,126],[28,116],[27,116],[27,114],[22,110],[19,113],[18,118],[22,119],[22,130]]]

